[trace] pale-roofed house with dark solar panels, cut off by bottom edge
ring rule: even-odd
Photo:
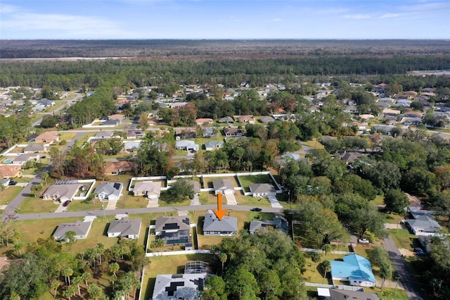
[[[195,300],[203,290],[207,273],[156,275],[152,300]]]

